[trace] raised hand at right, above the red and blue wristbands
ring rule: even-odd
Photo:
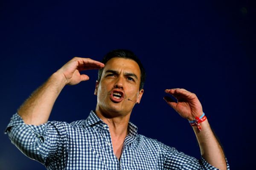
[[[166,89],[167,94],[171,94],[177,99],[175,102],[171,97],[165,96],[164,99],[181,117],[194,120],[196,116],[203,114],[203,108],[197,96],[183,88]]]

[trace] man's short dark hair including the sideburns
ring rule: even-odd
[[[110,60],[111,58],[114,57],[118,57],[118,58],[125,58],[125,59],[132,59],[135,62],[137,62],[137,64],[140,67],[140,90],[143,89],[144,86],[144,82],[146,79],[146,73],[145,73],[145,69],[142,65],[142,63],[140,62],[140,59],[130,50],[125,50],[125,49],[117,49],[117,50],[113,50],[108,52],[102,59],[102,63],[106,64],[108,62],[108,60]],[[102,77],[102,71],[104,68],[99,69],[98,72],[98,82],[100,82],[100,79]]]

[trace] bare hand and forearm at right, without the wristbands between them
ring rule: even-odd
[[[167,89],[167,94],[171,94],[177,99],[175,102],[169,96],[165,96],[166,102],[180,114],[181,117],[189,121],[195,120],[195,117],[200,117],[203,114],[203,109],[197,96],[182,88]],[[211,130],[207,119],[200,123],[201,130],[197,126],[192,126],[203,158],[212,166],[227,170],[227,163],[224,152]]]

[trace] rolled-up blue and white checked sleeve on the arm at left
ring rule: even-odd
[[[47,122],[42,125],[26,125],[15,113],[5,133],[13,144],[26,156],[46,165],[57,161],[67,143],[67,123]]]

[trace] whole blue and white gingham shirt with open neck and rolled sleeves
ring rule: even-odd
[[[120,161],[113,153],[109,127],[91,111],[86,120],[26,125],[16,113],[6,128],[26,156],[48,170],[216,170],[157,140],[137,134],[129,122]],[[229,167],[228,167],[229,169]]]

